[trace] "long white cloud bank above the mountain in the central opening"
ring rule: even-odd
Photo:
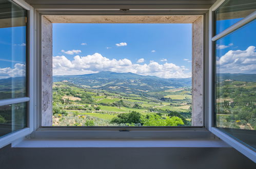
[[[184,66],[176,66],[172,63],[163,65],[151,61],[149,64],[132,64],[129,59],[109,59],[99,53],[87,56],[74,56],[70,61],[65,56],[53,57],[53,75],[78,75],[112,71],[119,73],[136,73],[162,78],[185,78],[191,77],[191,72]],[[186,73],[187,72],[187,73]]]

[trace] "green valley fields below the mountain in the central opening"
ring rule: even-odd
[[[141,126],[150,125],[146,120],[151,117],[171,119],[173,113],[180,123],[165,125],[191,125],[191,87],[157,93],[128,87],[123,91],[114,85],[109,90],[97,88],[66,80],[54,82],[53,126]],[[141,121],[122,119],[129,114],[132,118],[139,115]]]

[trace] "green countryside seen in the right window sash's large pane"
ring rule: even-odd
[[[216,88],[216,125],[256,130],[256,82],[254,78],[220,80]]]

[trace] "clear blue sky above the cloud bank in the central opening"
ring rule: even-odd
[[[191,69],[191,64],[183,60],[191,59],[191,34],[191,24],[53,24],[53,56],[63,54],[61,50],[76,49],[82,56],[100,53],[132,62],[167,58]],[[122,42],[127,46],[115,45]],[[72,55],[65,56],[72,59]]]

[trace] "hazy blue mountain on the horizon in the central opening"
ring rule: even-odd
[[[115,73],[102,71],[85,75],[53,76],[53,81],[67,80],[75,85],[94,89],[119,92],[163,91],[170,88],[190,87],[191,78],[160,78],[143,76],[134,73]]]

